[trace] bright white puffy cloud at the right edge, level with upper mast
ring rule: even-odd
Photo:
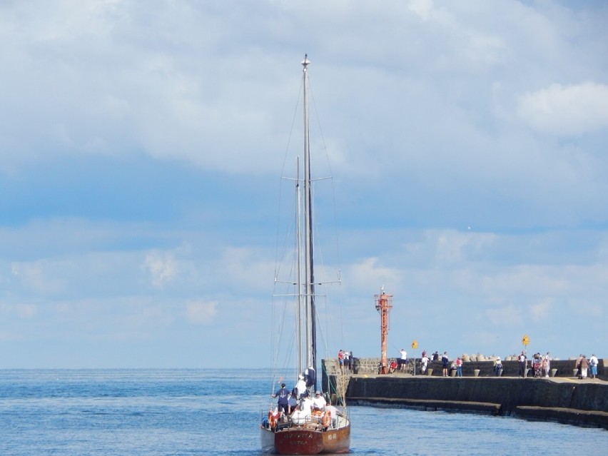
[[[555,83],[517,97],[517,115],[532,128],[557,136],[608,128],[608,86]]]

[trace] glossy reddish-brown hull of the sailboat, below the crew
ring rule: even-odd
[[[289,427],[272,432],[260,427],[262,451],[279,455],[319,455],[348,453],[350,423],[338,429],[320,431],[307,427]]]

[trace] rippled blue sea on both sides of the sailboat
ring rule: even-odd
[[[290,385],[288,385],[290,386]],[[1,456],[260,455],[268,370],[0,370]],[[608,431],[349,407],[352,455],[602,454]]]

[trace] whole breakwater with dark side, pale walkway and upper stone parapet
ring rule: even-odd
[[[432,375],[378,375],[378,359],[358,359],[355,373],[340,375],[335,360],[323,360],[323,385],[331,380],[350,405],[451,410],[511,415],[608,430],[608,382],[604,360],[599,379],[578,380],[574,361],[554,361],[552,378],[518,378],[515,361],[506,361],[496,377],[491,362],[465,363],[464,377],[442,377],[440,363]],[[476,372],[477,370],[477,372]]]

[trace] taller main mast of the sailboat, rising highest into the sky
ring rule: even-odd
[[[308,366],[313,366],[316,370],[317,334],[315,325],[315,275],[313,271],[313,201],[312,190],[310,188],[310,141],[308,132],[308,65],[310,65],[310,61],[308,60],[308,54],[305,54],[302,66],[304,67],[304,291],[306,296],[306,363]]]

